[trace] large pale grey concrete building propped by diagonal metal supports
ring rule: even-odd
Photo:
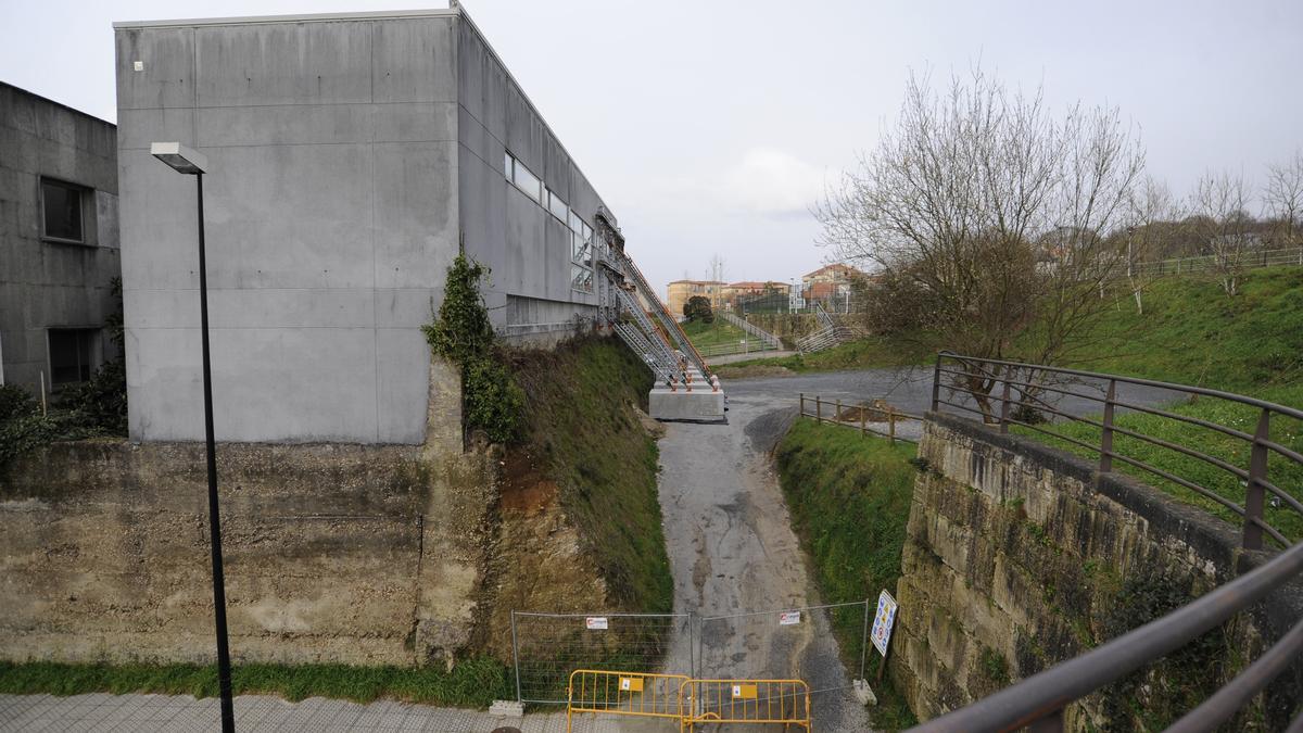
[[[446,10],[115,23],[130,436],[199,440],[207,155],[222,441],[420,443],[459,247],[508,339],[609,308],[614,219],[480,30]]]

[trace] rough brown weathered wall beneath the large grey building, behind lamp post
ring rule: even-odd
[[[463,454],[457,373],[431,373],[425,446],[219,445],[236,659],[410,665],[469,642],[499,456]],[[210,660],[210,583],[202,443],[59,443],[0,476],[0,657]]]

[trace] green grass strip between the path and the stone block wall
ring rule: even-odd
[[[876,603],[883,588],[895,595],[917,475],[909,464],[913,456],[911,443],[891,445],[812,420],[797,420],[778,443],[775,458],[792,524],[826,601]],[[847,668],[859,670],[863,616],[834,614],[833,627]],[[873,676],[882,657],[873,648],[868,656],[865,674]],[[908,728],[913,715],[889,681],[890,676],[877,686],[873,724]]]

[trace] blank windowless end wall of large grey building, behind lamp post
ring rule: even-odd
[[[120,26],[130,434],[202,437],[194,181],[223,441],[423,438],[430,320],[457,247],[451,14]],[[134,64],[143,64],[134,70]]]

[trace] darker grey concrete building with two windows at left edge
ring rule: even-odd
[[[0,82],[0,383],[57,393],[116,356],[119,273],[113,125]]]

